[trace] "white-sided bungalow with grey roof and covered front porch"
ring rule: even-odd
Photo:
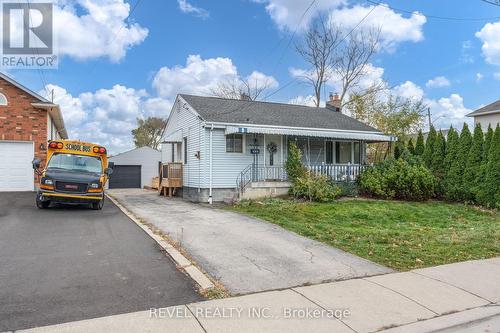
[[[354,180],[366,143],[392,138],[342,114],[338,104],[335,96],[316,108],[180,94],[165,130],[162,162],[183,163],[182,196],[198,202],[230,200],[259,186],[283,187],[290,142],[314,171]]]

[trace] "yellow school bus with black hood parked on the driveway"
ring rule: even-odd
[[[38,208],[51,203],[90,204],[100,210],[104,205],[104,186],[113,172],[106,148],[89,142],[49,141],[47,163],[40,170],[40,160],[33,168],[40,175],[36,196]]]

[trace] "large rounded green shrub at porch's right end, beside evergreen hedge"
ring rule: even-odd
[[[384,199],[428,200],[434,196],[436,184],[429,169],[403,158],[384,161],[364,171],[359,178],[363,194]]]

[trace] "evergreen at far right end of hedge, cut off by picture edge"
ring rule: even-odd
[[[491,140],[486,177],[481,182],[478,201],[487,207],[500,208],[500,125],[498,124]]]

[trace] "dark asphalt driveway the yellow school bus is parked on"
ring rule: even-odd
[[[39,210],[34,193],[0,193],[0,332],[200,299],[109,200]]]

